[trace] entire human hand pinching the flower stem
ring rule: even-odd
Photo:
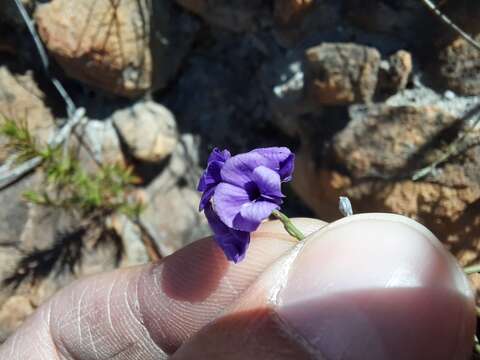
[[[320,231],[324,222],[294,219],[312,234],[305,243],[268,222],[239,264],[203,239],[159,263],[77,281],[0,359],[465,359],[468,285],[426,229],[401,219]]]

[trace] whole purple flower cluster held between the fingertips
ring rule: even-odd
[[[255,149],[231,157],[214,149],[198,190],[200,210],[229,260],[245,256],[250,232],[279,209],[284,195],[281,183],[292,178],[294,154],[285,147]]]

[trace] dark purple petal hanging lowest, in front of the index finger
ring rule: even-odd
[[[205,215],[214,233],[214,239],[227,259],[235,263],[242,261],[250,243],[250,234],[226,226],[213,211],[211,205],[205,208]]]

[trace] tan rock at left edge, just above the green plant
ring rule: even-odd
[[[45,95],[33,79],[33,74],[13,75],[0,67],[0,118],[26,125],[39,144],[45,144],[54,130],[54,118],[45,106]],[[0,160],[8,155],[7,139],[0,139]]]

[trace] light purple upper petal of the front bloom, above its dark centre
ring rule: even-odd
[[[257,152],[248,152],[231,157],[222,168],[222,180],[237,186],[245,186],[252,181],[251,173],[258,166],[275,169],[274,160],[268,159]]]

